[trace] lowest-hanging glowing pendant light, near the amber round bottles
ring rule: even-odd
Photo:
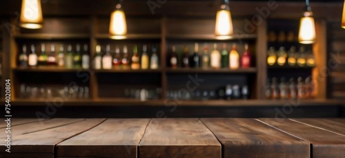
[[[303,44],[311,44],[315,42],[315,21],[309,0],[306,0],[306,8],[304,10],[304,17],[301,18],[299,23],[298,41]]]

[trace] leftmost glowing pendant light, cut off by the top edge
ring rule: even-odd
[[[43,17],[41,0],[23,0],[21,2],[20,26],[23,28],[42,28]]]

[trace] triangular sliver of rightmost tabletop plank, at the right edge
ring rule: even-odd
[[[292,119],[302,124],[323,128],[331,132],[345,135],[345,119]]]

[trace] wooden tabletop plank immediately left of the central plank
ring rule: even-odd
[[[137,157],[150,119],[108,119],[57,145],[57,157]]]

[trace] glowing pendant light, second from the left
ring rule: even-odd
[[[111,13],[109,33],[112,39],[126,39],[127,24],[122,0],[119,0],[115,10]]]

